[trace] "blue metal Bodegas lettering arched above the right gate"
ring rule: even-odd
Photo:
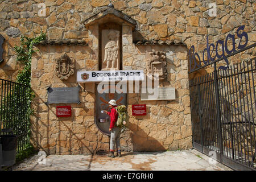
[[[245,31],[243,31],[245,28],[245,26],[240,26],[237,29],[237,37],[240,38],[240,42],[238,44],[238,49],[240,49],[240,51],[244,51],[246,49],[246,45],[248,43],[248,35]],[[241,31],[241,32],[240,32]],[[241,41],[243,39],[243,37],[245,38],[245,43],[241,44]],[[228,39],[232,39],[232,49],[228,49]],[[218,52],[218,47],[221,46],[221,54],[220,52]],[[252,45],[253,46],[253,45]],[[212,49],[212,50],[211,50]],[[212,57],[212,53],[216,51],[215,56]],[[207,52],[207,60],[205,60],[205,53]],[[225,52],[227,55],[225,55]],[[226,62],[226,67],[224,66],[220,66],[218,69],[224,69],[226,70],[229,67],[229,61],[227,59],[227,57],[233,55],[234,53],[238,53],[238,51],[236,51],[236,46],[235,46],[235,35],[232,34],[228,34],[228,36],[226,36],[226,40],[224,42],[224,40],[218,40],[216,42],[216,46],[214,46],[213,43],[209,44],[209,40],[208,40],[208,35],[207,35],[207,48],[204,49],[203,51],[203,57],[202,57],[202,61],[205,65],[201,65],[201,59],[199,56],[199,53],[195,52],[195,46],[191,46],[191,48],[189,49],[188,52],[188,61],[189,61],[189,73],[196,71],[197,69],[200,69],[202,67],[206,67],[210,64],[216,63],[217,61],[220,60],[225,60]],[[217,60],[216,60],[217,57]],[[194,63],[193,67],[192,64]]]

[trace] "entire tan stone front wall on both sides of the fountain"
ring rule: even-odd
[[[89,35],[93,39],[94,35]],[[127,36],[129,33],[124,31],[123,39]],[[132,42],[130,43],[131,53],[133,52],[130,59],[134,61],[127,63],[124,61],[124,69],[145,70],[148,52],[152,49],[166,51],[167,67],[171,72],[168,71],[167,80],[160,83],[160,86],[174,87],[176,100],[141,101],[141,94],[128,94],[130,124],[121,135],[122,150],[165,151],[191,148],[192,130],[186,47],[135,46]],[[31,85],[36,97],[32,105],[35,115],[31,117],[31,142],[48,154],[90,154],[98,150],[109,150],[109,137],[102,134],[94,123],[96,85],[94,83],[78,84],[76,74],[70,76],[67,81],[63,81],[53,71],[54,60],[60,57],[63,51],[76,60],[77,70],[97,70],[98,63],[93,60],[93,55],[90,55],[90,49],[89,46],[38,46],[39,52],[32,59]],[[126,50],[123,49],[123,52]],[[77,85],[81,86],[81,103],[71,104],[71,118],[57,118],[56,106],[63,104],[45,104],[48,86]],[[146,104],[147,115],[132,116],[131,105],[133,104]]]

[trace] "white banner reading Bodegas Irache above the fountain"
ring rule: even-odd
[[[143,70],[78,71],[77,82],[144,80]]]

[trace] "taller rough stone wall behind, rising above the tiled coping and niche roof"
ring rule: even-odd
[[[19,35],[34,36],[40,31],[48,39],[85,39],[88,35],[83,22],[89,16],[106,9],[113,3],[115,9],[137,20],[134,40],[179,40],[188,48],[195,45],[196,52],[209,42],[224,39],[237,27],[245,24],[249,44],[255,43],[255,9],[253,0],[6,0],[0,3],[0,34],[6,39],[3,48],[4,63],[0,64],[0,77],[15,80],[20,65],[15,62],[13,47],[19,44]],[[216,3],[217,16],[209,16],[209,3]],[[46,4],[46,16],[38,16],[39,3]],[[57,33],[57,34],[56,34]],[[236,62],[246,60],[255,52],[238,55]],[[232,61],[232,60],[231,60]]]

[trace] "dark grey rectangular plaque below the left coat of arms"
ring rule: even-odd
[[[48,89],[47,104],[60,104],[60,103],[80,103],[79,90],[80,86],[67,87],[67,88],[51,88]]]

